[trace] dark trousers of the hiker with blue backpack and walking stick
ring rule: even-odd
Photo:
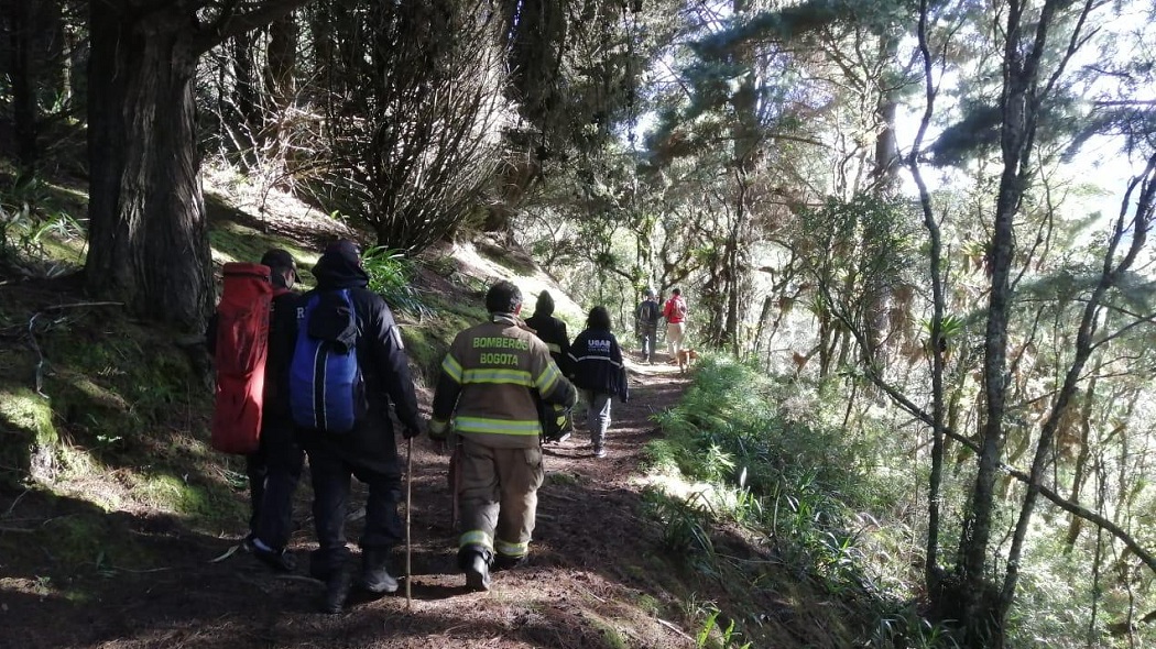
[[[313,522],[319,546],[312,555],[311,572],[324,575],[340,567],[349,557],[346,547],[346,512],[349,506],[350,477],[356,477],[369,487],[365,529],[358,543],[362,550],[388,551],[401,543],[405,534],[398,515],[401,471],[397,446],[393,443],[387,445],[393,449],[392,455],[364,461],[333,439],[314,442],[305,445],[313,479]]]

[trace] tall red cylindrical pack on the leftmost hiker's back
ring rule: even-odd
[[[217,305],[216,401],[213,448],[250,454],[261,434],[265,361],[269,351],[273,283],[269,267],[225,263],[224,291]]]

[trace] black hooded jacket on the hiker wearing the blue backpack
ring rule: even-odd
[[[349,289],[360,333],[356,343],[357,364],[365,380],[369,415],[344,435],[303,431],[302,443],[306,447],[323,445],[353,463],[376,465],[388,461],[392,467],[395,464],[393,460],[397,457],[397,446],[390,404],[393,403],[402,426],[414,432],[421,431],[417,396],[409,375],[409,358],[401,342],[401,330],[385,300],[366,288],[369,276],[356,263],[341,255],[326,253],[313,267],[313,276],[317,277],[317,289],[302,296],[298,301],[294,340],[296,322],[304,316],[304,306],[313,293]]]

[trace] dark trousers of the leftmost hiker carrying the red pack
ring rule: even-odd
[[[245,456],[252,505],[249,529],[276,551],[284,550],[292,534],[292,497],[303,464],[292,424],[276,419],[265,423],[257,453]]]

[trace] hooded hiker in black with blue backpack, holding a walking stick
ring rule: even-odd
[[[324,609],[335,613],[344,605],[354,582],[344,535],[350,476],[369,490],[357,584],[373,594],[398,589],[397,579],[390,574],[390,553],[405,539],[405,532],[398,514],[401,468],[390,404],[406,439],[417,435],[422,425],[401,331],[385,300],[366,288],[369,275],[362,268],[361,249],[349,240],[331,244],[313,267],[313,276],[317,289],[302,297],[296,313],[297,346],[290,382],[295,419],[302,426],[299,437],[313,480],[318,549],[311,557],[310,574],[326,582]],[[347,344],[346,353],[351,351],[356,361],[353,401],[357,416],[342,432],[328,430],[334,424],[323,418],[313,426],[305,425],[297,415],[311,406],[331,405],[324,394],[318,396],[323,401],[310,403],[313,395],[297,391],[302,364],[305,378],[317,372],[318,381],[323,380],[320,373],[328,371],[325,363],[313,365],[316,353],[303,352],[309,337],[323,336],[326,330]],[[327,375],[324,379],[328,380]],[[336,416],[328,411],[326,415]]]

